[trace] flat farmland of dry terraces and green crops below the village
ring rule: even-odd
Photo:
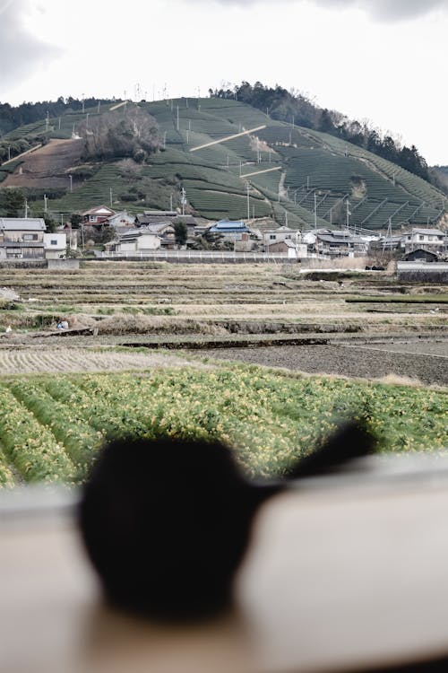
[[[384,450],[446,447],[443,286],[91,261],[1,268],[0,287],[16,295],[0,304],[0,330],[12,328],[0,335],[4,485],[77,484],[123,433],[217,436],[258,476],[281,474],[349,414],[368,417]],[[57,333],[60,319],[98,333]]]

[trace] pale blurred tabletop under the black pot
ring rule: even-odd
[[[62,505],[0,498],[2,673],[336,671],[448,654],[446,459],[396,458],[272,499],[234,611],[182,628],[103,606]]]

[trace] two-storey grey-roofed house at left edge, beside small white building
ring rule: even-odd
[[[45,259],[46,230],[40,217],[1,217],[0,259]]]

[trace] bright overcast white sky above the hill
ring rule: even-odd
[[[256,81],[448,165],[448,0],[0,0],[0,101]]]

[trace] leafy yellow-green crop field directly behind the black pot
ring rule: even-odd
[[[287,377],[256,367],[47,375],[0,381],[0,484],[79,484],[108,437],[217,438],[250,476],[281,475],[363,415],[383,450],[446,444],[446,394],[330,378]]]

